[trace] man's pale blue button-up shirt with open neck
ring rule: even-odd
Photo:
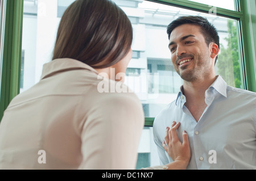
[[[182,87],[181,87],[182,89]],[[166,127],[180,121],[177,134],[187,131],[191,161],[187,169],[256,169],[256,93],[226,85],[218,75],[205,91],[205,108],[198,123],[184,106],[185,95],[155,117],[154,141],[161,164],[172,162],[162,148]]]

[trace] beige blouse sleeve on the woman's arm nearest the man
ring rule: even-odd
[[[79,169],[135,169],[144,126],[137,96],[108,93],[91,110],[81,133]]]

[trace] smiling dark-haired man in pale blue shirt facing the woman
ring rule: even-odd
[[[167,28],[171,61],[184,80],[174,102],[154,121],[161,164],[172,162],[162,143],[165,129],[188,133],[187,169],[256,169],[256,93],[226,85],[214,72],[219,52],[216,28],[201,16],[181,16]]]

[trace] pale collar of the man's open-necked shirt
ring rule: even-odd
[[[227,97],[227,94],[226,94],[226,87],[227,87],[227,84],[226,82],[224,81],[224,79],[221,77],[221,75],[218,75],[216,80],[212,83],[212,85],[210,85],[210,87],[208,88],[208,90],[212,89],[216,90],[218,93],[220,93],[221,95]],[[180,87],[180,91],[177,95],[177,98],[176,98],[176,106],[177,106],[177,100],[180,98],[180,96],[183,95],[183,86]]]

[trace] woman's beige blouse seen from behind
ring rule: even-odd
[[[0,169],[135,169],[143,109],[130,91],[98,91],[116,84],[77,60],[45,64],[4,113]]]

